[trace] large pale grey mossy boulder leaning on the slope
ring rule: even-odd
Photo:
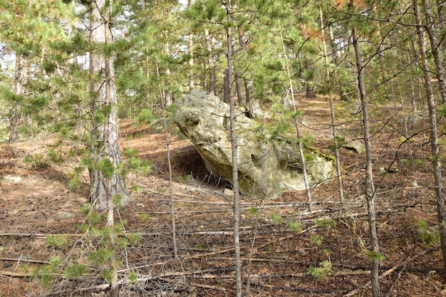
[[[207,170],[232,181],[229,105],[203,90],[192,90],[175,102],[175,123],[199,152]],[[239,189],[251,197],[272,198],[284,191],[305,189],[299,146],[286,137],[272,136],[264,125],[236,110]],[[311,186],[333,174],[333,160],[306,149]]]

